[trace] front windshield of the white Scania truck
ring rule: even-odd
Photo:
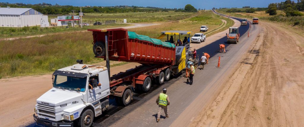
[[[55,75],[53,87],[84,92],[86,83],[87,78]]]

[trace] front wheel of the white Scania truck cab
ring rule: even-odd
[[[91,109],[87,109],[81,114],[78,125],[81,127],[90,127],[93,124],[93,120],[93,111]]]

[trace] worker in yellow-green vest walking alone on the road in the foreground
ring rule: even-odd
[[[167,93],[167,89],[164,88],[163,93],[160,93],[156,99],[156,104],[158,105],[158,113],[157,113],[156,122],[159,122],[159,119],[161,118],[161,111],[163,109],[164,109],[166,118],[169,118],[167,106],[170,104],[170,100],[166,93]]]

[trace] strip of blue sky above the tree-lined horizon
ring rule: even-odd
[[[59,5],[73,6],[115,6],[115,5],[134,5],[134,6],[152,6],[166,8],[184,8],[186,4],[191,4],[197,9],[212,9],[220,7],[267,7],[269,3],[282,2],[283,0],[0,0],[0,2],[9,3],[50,3]],[[285,1],[285,0],[284,0]],[[295,1],[296,2],[296,1]]]

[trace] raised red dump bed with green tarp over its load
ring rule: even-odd
[[[95,57],[105,57],[105,36],[108,41],[109,60],[137,62],[140,64],[175,64],[175,45],[161,42],[128,30],[88,30],[93,32]]]

